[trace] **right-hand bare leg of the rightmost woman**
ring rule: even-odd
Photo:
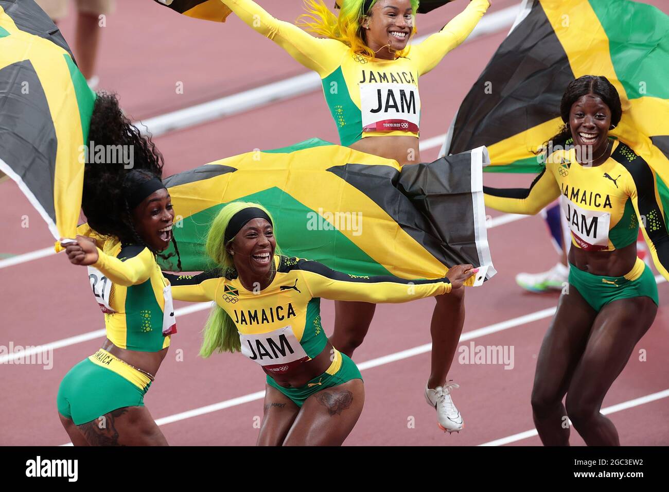
[[[590,333],[567,390],[567,414],[589,446],[619,446],[613,422],[599,410],[658,312],[650,297],[618,299],[605,305]]]

